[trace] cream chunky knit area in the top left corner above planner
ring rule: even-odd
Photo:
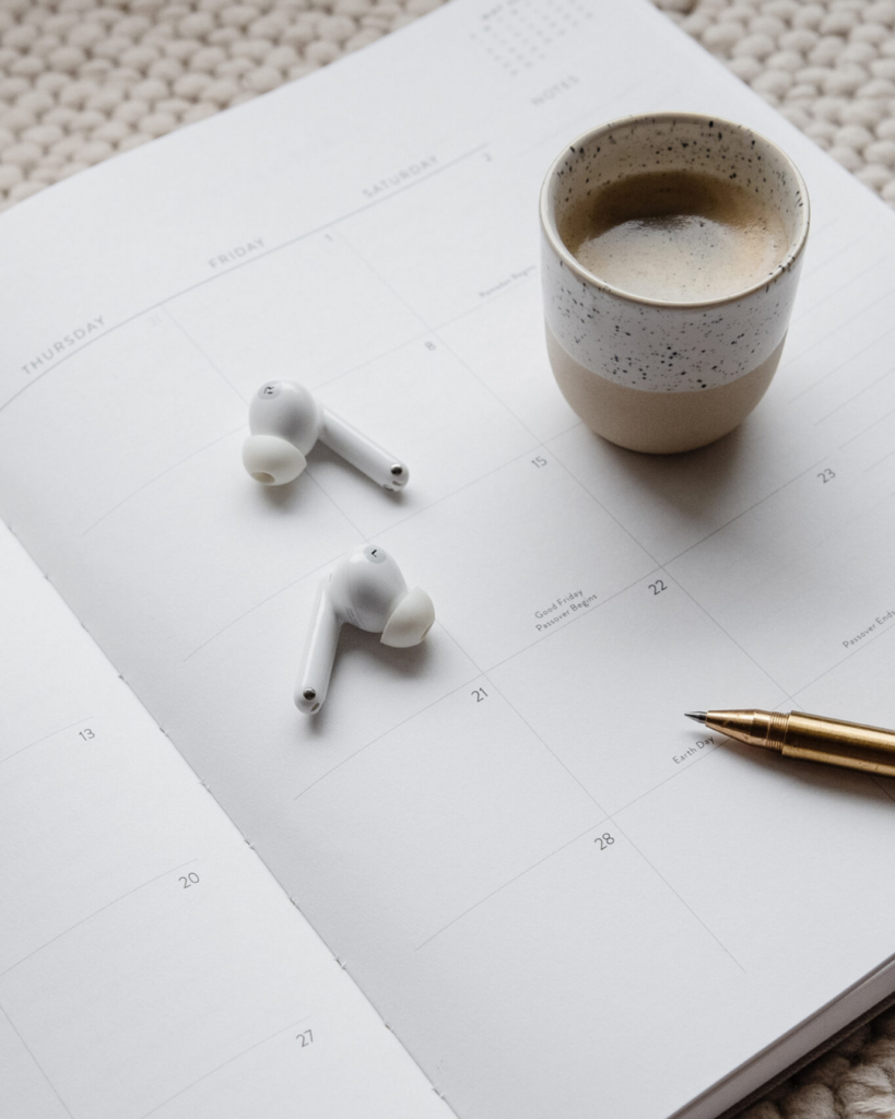
[[[0,0],[0,208],[358,50],[441,0]]]

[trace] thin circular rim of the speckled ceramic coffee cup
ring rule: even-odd
[[[665,300],[665,299],[650,299],[647,295],[637,295],[633,292],[625,291],[623,288],[616,288],[614,284],[609,283],[606,280],[602,280],[594,272],[588,271],[584,265],[577,260],[576,256],[569,251],[563,238],[559,236],[559,232],[556,228],[556,214],[550,213],[550,187],[556,178],[557,171],[560,168],[564,160],[567,158],[569,150],[575,148],[581,148],[590,144],[593,140],[605,135],[609,132],[618,131],[622,126],[630,126],[633,123],[646,121],[694,121],[694,122],[715,122],[717,121],[723,126],[746,130],[756,140],[761,140],[762,143],[766,144],[773,151],[775,151],[786,163],[789,170],[795,180],[797,192],[801,194],[804,205],[801,207],[801,214],[797,218],[795,233],[790,239],[786,254],[779,264],[775,265],[774,270],[770,272],[763,280],[751,284],[748,288],[742,288],[739,291],[734,292],[731,295],[720,295],[717,299],[706,299],[698,300],[695,302],[682,301],[682,300]],[[628,116],[619,116],[615,120],[606,121],[604,124],[597,124],[596,128],[588,129],[586,132],[582,132],[578,137],[572,140],[569,143],[565,144],[559,154],[550,163],[547,173],[544,178],[544,182],[540,187],[540,198],[538,205],[538,213],[540,217],[540,228],[547,238],[550,248],[558,256],[559,261],[569,269],[569,271],[577,276],[582,283],[588,284],[592,288],[599,288],[601,291],[606,292],[609,295],[614,295],[616,299],[625,300],[629,303],[637,303],[640,307],[656,307],[660,309],[669,310],[682,310],[682,311],[694,311],[700,308],[715,308],[715,307],[726,307],[729,303],[736,303],[745,299],[755,292],[761,291],[763,288],[775,283],[776,280],[783,275],[785,272],[790,271],[802,251],[804,250],[805,242],[808,241],[808,231],[811,225],[811,204],[808,197],[808,187],[802,178],[802,173],[795,166],[793,160],[785,151],[780,147],[780,144],[774,143],[773,140],[769,140],[761,132],[756,132],[755,129],[751,128],[748,124],[739,124],[736,121],[731,121],[724,116],[709,115],[707,113],[689,113],[689,112],[671,112],[663,111],[659,113],[631,113]]]

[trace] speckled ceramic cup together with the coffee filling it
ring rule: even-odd
[[[808,235],[795,167],[743,125],[603,125],[541,191],[547,349],[595,432],[639,451],[733,430],[776,369]]]

